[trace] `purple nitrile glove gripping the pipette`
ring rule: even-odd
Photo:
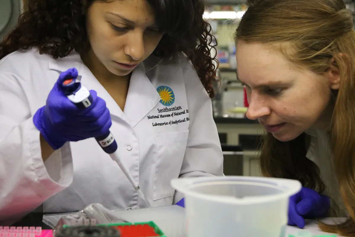
[[[76,79],[78,71],[71,68],[59,75],[59,79],[49,92],[46,105],[33,116],[33,123],[44,139],[54,149],[59,149],[67,141],[80,141],[106,133],[111,127],[111,117],[105,101],[91,90],[90,107],[77,108],[64,94],[62,83]]]

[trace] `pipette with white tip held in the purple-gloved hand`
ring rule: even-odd
[[[71,102],[73,102],[78,108],[84,109],[91,106],[92,96],[90,95],[90,91],[87,88],[83,87],[80,82],[76,81],[75,79],[67,79],[63,82],[62,86],[64,88],[64,92],[67,98]],[[118,152],[116,152],[117,143],[110,131],[107,131],[105,134],[95,139],[100,144],[101,148],[111,156],[112,160],[114,160],[118,164],[122,172],[132,184],[133,188],[137,191],[140,198],[148,205],[148,207],[150,207],[139,185],[134,181],[127,167],[123,165],[121,158],[118,155]]]

